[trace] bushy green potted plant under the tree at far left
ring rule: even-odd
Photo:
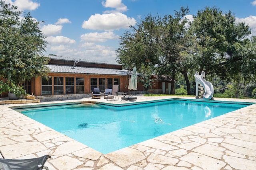
[[[23,86],[18,86],[12,81],[3,82],[0,80],[0,94],[8,92],[9,100],[17,100],[24,95],[27,95]]]

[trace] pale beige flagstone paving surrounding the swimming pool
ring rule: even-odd
[[[177,97],[137,96],[137,100],[107,103],[132,104],[168,98]],[[215,100],[256,103],[256,100]],[[106,102],[103,98],[84,98],[1,105],[0,150],[3,156],[26,159],[48,154],[52,158],[45,165],[50,170],[256,169],[256,104],[108,154],[102,154],[9,108],[77,101]]]

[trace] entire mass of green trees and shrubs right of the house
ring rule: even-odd
[[[213,83],[220,79],[221,85],[214,85],[216,95],[250,97],[254,86],[249,85],[256,82],[256,37],[248,38],[249,25],[216,6],[198,10],[191,22],[184,18],[188,12],[182,7],[174,16],[146,16],[121,37],[117,61],[126,67],[135,63],[141,73],[149,66],[154,74],[171,75],[176,82],[183,76],[188,94],[195,92],[194,73],[204,71]],[[172,81],[172,94],[174,89]]]

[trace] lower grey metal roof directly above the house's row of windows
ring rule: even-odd
[[[61,73],[80,73],[80,74],[108,74],[108,75],[127,75],[128,70],[109,69],[109,68],[96,68],[96,67],[82,67],[82,66],[69,66],[48,64],[51,72]]]

